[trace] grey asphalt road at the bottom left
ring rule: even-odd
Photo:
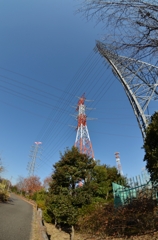
[[[0,203],[0,240],[30,240],[33,207],[14,194]]]

